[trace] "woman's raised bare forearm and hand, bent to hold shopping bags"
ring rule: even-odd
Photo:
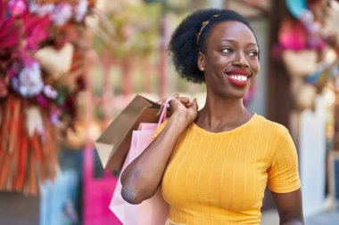
[[[181,133],[197,117],[196,100],[170,101],[173,114],[157,138],[121,174],[121,196],[130,204],[153,197]]]

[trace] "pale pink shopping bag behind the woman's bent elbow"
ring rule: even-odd
[[[165,106],[169,100],[166,101]],[[133,131],[131,146],[122,171],[151,143],[156,128],[165,117],[166,107],[162,109],[158,124],[141,123],[138,129]],[[121,197],[120,178],[113,193],[110,209],[126,225],[162,225],[165,224],[169,213],[169,205],[162,198],[160,188],[157,189],[153,197],[139,205],[131,205],[126,202]]]

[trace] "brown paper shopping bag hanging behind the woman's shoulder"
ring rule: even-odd
[[[137,129],[141,121],[146,123],[158,121],[160,108],[161,105],[141,95],[136,95],[131,100],[95,141],[95,148],[104,168],[121,170],[130,147],[132,131]]]

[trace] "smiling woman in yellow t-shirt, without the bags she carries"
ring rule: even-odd
[[[161,186],[168,224],[260,224],[268,183],[280,224],[303,224],[290,134],[243,105],[260,68],[248,22],[228,10],[194,12],[175,31],[170,52],[182,76],[206,84],[206,104],[198,112],[196,100],[170,101],[172,116],[122,173],[122,197],[139,204]]]

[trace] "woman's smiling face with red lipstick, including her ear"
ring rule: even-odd
[[[208,92],[227,99],[241,99],[258,74],[259,48],[250,28],[237,21],[214,25],[199,53]]]

